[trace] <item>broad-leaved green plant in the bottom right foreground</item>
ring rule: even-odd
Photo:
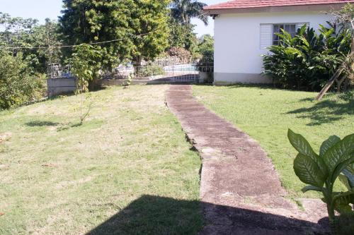
[[[322,143],[319,155],[302,135],[289,130],[287,137],[299,152],[294,161],[295,174],[309,184],[302,191],[319,191],[324,195],[322,200],[327,204],[332,234],[338,234],[335,210],[340,214],[353,212],[350,204],[354,204],[354,134],[343,140],[332,135]],[[333,192],[336,179],[348,191]]]

